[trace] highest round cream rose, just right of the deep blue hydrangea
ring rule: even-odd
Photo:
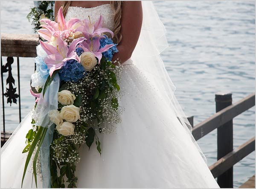
[[[91,52],[83,52],[80,55],[80,64],[84,67],[84,70],[92,71],[97,64],[97,59]]]

